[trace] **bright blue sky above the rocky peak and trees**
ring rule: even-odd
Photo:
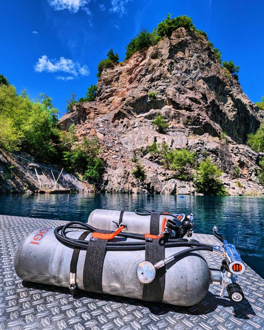
[[[1,0],[0,73],[32,98],[47,93],[65,112],[71,90],[84,96],[96,84],[98,62],[125,46],[142,27],[191,16],[223,60],[241,67],[239,81],[253,102],[264,95],[264,4],[218,0]]]

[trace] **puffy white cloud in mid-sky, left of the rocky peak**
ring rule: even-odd
[[[59,60],[52,59],[50,60],[47,55],[43,55],[38,59],[38,62],[34,65],[36,72],[66,72],[72,74],[73,76],[62,77],[58,76],[56,79],[60,80],[72,80],[81,76],[88,76],[90,70],[86,64],[81,66],[79,62],[73,62],[73,60],[60,57]]]

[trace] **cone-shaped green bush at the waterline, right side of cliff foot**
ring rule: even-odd
[[[219,180],[222,172],[209,158],[202,161],[194,175],[194,184],[198,193],[226,196],[227,191]]]

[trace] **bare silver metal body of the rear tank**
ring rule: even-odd
[[[104,228],[106,230],[116,230],[116,224],[119,223],[121,211],[96,209],[91,212],[87,223],[95,228]],[[160,215],[159,232],[162,232],[162,221],[164,218],[173,219],[170,215]],[[123,232],[136,234],[149,233],[150,215],[137,215],[135,212],[124,212],[122,223],[127,227]]]

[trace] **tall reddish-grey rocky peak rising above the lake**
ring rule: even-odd
[[[256,177],[260,155],[245,145],[263,112],[220,66],[204,37],[179,28],[171,38],[104,70],[97,87],[96,101],[76,104],[60,125],[67,130],[74,123],[79,141],[98,137],[107,163],[102,190],[195,194],[193,182],[178,180],[148,153],[153,141],[166,141],[170,147],[196,151],[199,161],[212,159],[231,195],[264,194]],[[156,92],[154,99],[150,91]],[[166,134],[153,127],[156,115],[166,118]],[[132,174],[133,150],[145,167],[144,182]],[[239,179],[234,178],[235,167],[240,168]]]

